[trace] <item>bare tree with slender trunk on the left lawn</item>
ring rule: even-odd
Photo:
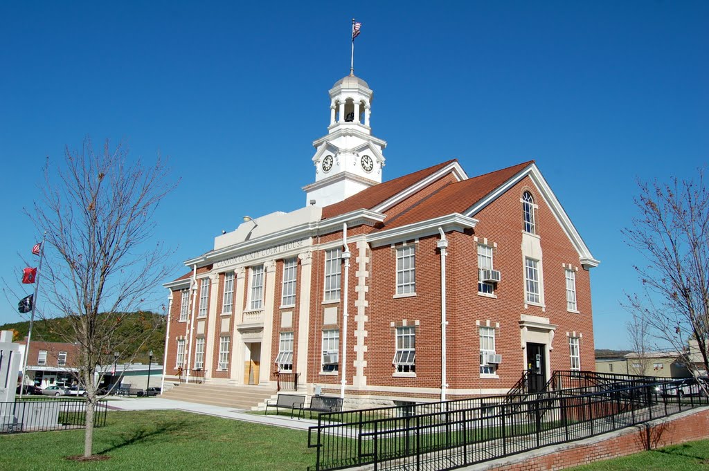
[[[40,319],[63,317],[65,322],[53,325],[65,327],[55,333],[79,346],[88,458],[101,399],[94,373],[113,362],[113,351],[131,361],[136,351],[123,348],[130,344],[135,349],[136,340],[140,345],[151,333],[148,327],[126,338],[121,320],[139,310],[170,271],[166,262],[171,254],[151,240],[152,217],[175,183],[160,158],[152,166],[130,161],[121,144],[111,149],[108,141],[94,152],[88,138],[81,151],[67,147],[64,159],[48,158],[44,176],[40,200],[26,210],[37,229],[47,232]]]

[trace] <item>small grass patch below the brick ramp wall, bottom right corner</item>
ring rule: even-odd
[[[635,455],[597,461],[569,471],[706,471],[709,470],[709,440],[643,451]]]

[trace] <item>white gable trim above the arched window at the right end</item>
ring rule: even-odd
[[[557,196],[554,195],[552,188],[549,186],[549,183],[547,183],[544,176],[542,176],[542,172],[536,164],[532,163],[526,166],[524,169],[519,171],[518,174],[510,178],[501,186],[495,188],[495,190],[471,206],[471,208],[465,211],[464,214],[470,217],[476,215],[494,200],[499,198],[503,193],[522,181],[525,176],[529,176],[531,178],[532,182],[540,191],[542,198],[545,199],[547,205],[551,208],[552,214],[564,230],[564,234],[566,234],[566,237],[569,237],[571,244],[574,245],[574,248],[579,253],[579,260],[584,265],[584,268],[588,269],[598,266],[601,262],[594,259],[593,255],[591,255],[591,250],[589,250],[588,246],[586,246],[584,239],[581,238],[581,234],[579,234],[579,231],[577,231],[576,227],[574,227],[571,219],[569,219],[569,215],[567,215],[566,211],[564,211],[562,204],[559,203]]]

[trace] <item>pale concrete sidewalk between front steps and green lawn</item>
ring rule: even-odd
[[[264,415],[263,413],[247,414],[243,409],[175,401],[162,399],[162,397],[111,397],[106,403],[108,409],[114,411],[179,410],[296,430],[308,430],[308,427],[318,424],[318,421],[311,419],[298,420],[296,417],[291,419],[287,416]]]

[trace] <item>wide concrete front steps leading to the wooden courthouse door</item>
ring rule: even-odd
[[[262,406],[266,399],[275,397],[276,385],[267,386],[230,386],[201,385],[181,383],[160,395],[164,399],[196,402],[212,406],[233,407],[234,409],[252,410]]]

